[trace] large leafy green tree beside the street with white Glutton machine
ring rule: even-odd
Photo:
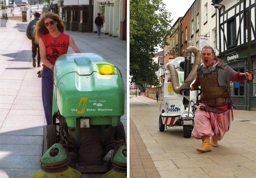
[[[162,0],[130,0],[130,76],[137,85],[159,84],[152,58],[170,34],[171,13],[165,6]]]

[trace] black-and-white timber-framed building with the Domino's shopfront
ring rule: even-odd
[[[254,72],[254,80],[250,84],[246,81],[230,83],[233,104],[238,110],[256,110],[256,2],[255,0],[213,0],[212,4],[218,9],[220,34],[218,58],[228,62],[237,72],[246,72],[246,70]],[[251,38],[249,46],[248,38]],[[251,63],[250,69],[248,62]]]

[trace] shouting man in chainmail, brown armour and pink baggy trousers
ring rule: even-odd
[[[190,90],[201,87],[202,97],[198,100],[200,109],[196,109],[192,137],[202,139],[198,152],[212,150],[218,146],[228,132],[233,118],[232,101],[228,85],[230,81],[252,80],[253,73],[241,73],[233,70],[227,63],[219,60],[211,46],[202,48],[203,65],[198,67],[196,82]],[[214,108],[214,111],[209,111]],[[212,137],[210,142],[210,136]]]

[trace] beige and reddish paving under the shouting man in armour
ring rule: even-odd
[[[184,138],[181,126],[159,131],[161,105],[130,96],[130,178],[256,177],[255,111],[234,110],[234,121],[219,146],[200,153],[196,147],[202,141]]]

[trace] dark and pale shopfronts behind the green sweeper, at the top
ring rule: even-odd
[[[100,13],[103,34],[126,40],[126,0],[51,0],[52,12],[64,21],[66,30],[96,33],[94,19]]]

